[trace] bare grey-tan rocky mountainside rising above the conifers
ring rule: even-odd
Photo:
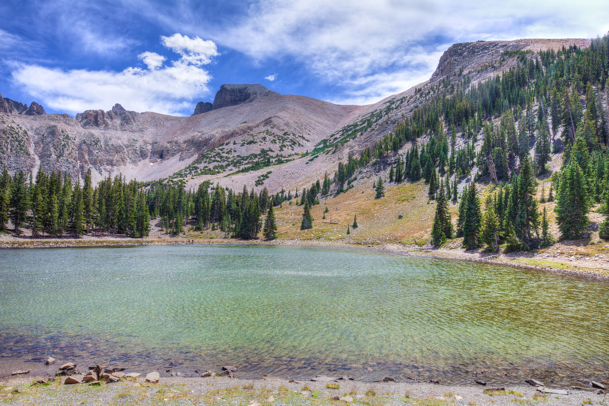
[[[393,131],[446,77],[468,74],[473,86],[518,64],[518,57],[505,51],[571,44],[585,47],[590,40],[454,44],[427,82],[366,106],[281,95],[262,85],[222,85],[213,104],[200,102],[187,117],[137,113],[118,103],[71,117],[46,114],[36,102],[28,107],[0,97],[0,164],[12,173],[41,165],[45,172],[62,170],[72,178],[91,168],[94,181],[122,173],[141,181],[183,178],[191,187],[212,180],[237,189],[258,181],[269,192],[301,188]],[[270,168],[226,176],[269,159]]]

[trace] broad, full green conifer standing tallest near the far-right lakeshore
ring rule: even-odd
[[[571,159],[561,172],[557,204],[554,208],[561,238],[576,239],[582,236],[590,221],[589,208],[590,199],[583,170],[576,159]]]

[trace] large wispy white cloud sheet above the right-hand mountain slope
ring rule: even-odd
[[[231,26],[214,27],[208,35],[255,60],[294,58],[323,81],[342,86],[353,100],[363,100],[428,79],[452,43],[602,34],[604,13],[581,10],[606,4],[585,3],[515,0],[481,7],[473,0],[260,0]],[[190,24],[201,32],[197,23]],[[371,80],[379,82],[361,85]]]

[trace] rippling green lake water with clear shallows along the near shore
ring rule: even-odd
[[[0,372],[53,355],[186,376],[236,365],[239,377],[609,378],[609,283],[585,276],[185,245],[1,250],[0,288]]]

